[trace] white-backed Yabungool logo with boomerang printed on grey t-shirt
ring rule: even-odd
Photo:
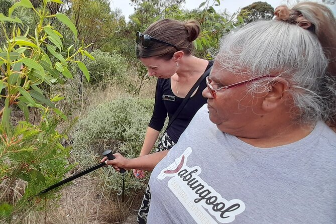
[[[168,187],[180,200],[197,223],[229,223],[245,210],[239,199],[228,201],[209,186],[199,174],[199,166],[188,167],[187,158],[192,153],[188,147],[180,157],[157,176],[159,180],[172,177]],[[212,216],[211,216],[212,215]],[[215,217],[216,220],[213,219]]]

